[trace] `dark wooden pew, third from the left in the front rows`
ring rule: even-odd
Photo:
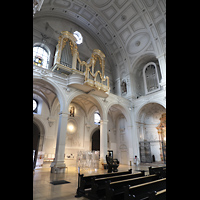
[[[157,180],[159,175],[153,174],[149,176],[137,177],[123,181],[106,182],[106,200],[115,200],[124,198],[124,186],[135,186],[142,183]]]

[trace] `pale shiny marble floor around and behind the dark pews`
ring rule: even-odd
[[[75,167],[68,167],[65,173],[52,174],[50,173],[50,163],[44,163],[42,168],[36,168],[33,171],[33,199],[34,200],[86,200],[87,198],[75,198],[76,189],[78,186],[78,170]],[[138,170],[145,170],[145,175],[148,175],[148,167],[165,166],[161,162],[142,163],[138,166],[119,165],[118,171],[127,171],[132,168],[132,173]],[[107,173],[104,169],[81,169],[81,174],[93,175]],[[66,180],[70,183],[61,185],[52,185],[51,181]]]

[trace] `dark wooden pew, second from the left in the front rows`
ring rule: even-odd
[[[106,194],[106,187],[110,187],[110,185],[106,185],[108,182],[119,182],[122,180],[132,180],[137,177],[144,177],[144,171],[135,173],[135,174],[125,174],[120,176],[113,177],[105,177],[105,178],[97,178],[92,180],[92,189],[89,191],[88,197],[92,200],[99,199]]]

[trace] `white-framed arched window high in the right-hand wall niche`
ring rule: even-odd
[[[143,68],[145,94],[160,90],[157,66],[154,62],[146,64]]]

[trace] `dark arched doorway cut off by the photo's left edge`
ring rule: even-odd
[[[33,155],[33,170],[35,169],[35,166],[36,166],[39,141],[40,141],[40,130],[33,123],[33,150],[34,150],[34,155]]]

